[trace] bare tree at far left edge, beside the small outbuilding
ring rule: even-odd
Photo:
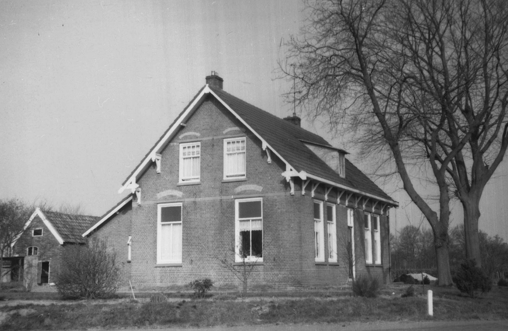
[[[23,232],[32,212],[31,208],[16,198],[0,201],[0,287],[4,275],[4,256],[10,255],[12,243]]]

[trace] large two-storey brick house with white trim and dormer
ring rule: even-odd
[[[346,154],[212,72],[122,183],[130,195],[83,236],[107,239],[133,285],[240,284],[221,260],[255,263],[251,284],[388,282],[398,204]]]

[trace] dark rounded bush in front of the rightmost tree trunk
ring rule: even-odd
[[[459,291],[467,293],[470,297],[474,297],[475,291],[481,290],[484,293],[492,288],[490,278],[476,266],[474,260],[466,260],[460,264],[454,282]]]

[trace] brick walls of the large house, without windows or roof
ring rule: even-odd
[[[234,137],[246,137],[247,178],[225,182],[224,139]],[[196,141],[201,143],[200,182],[179,184],[179,144]],[[117,257],[126,254],[128,233],[132,235],[132,262],[124,272],[130,272],[133,285],[186,284],[204,277],[211,278],[215,284],[240,285],[240,281],[221,266],[220,260],[230,263],[235,260],[235,200],[244,197],[263,198],[263,262],[257,263],[253,270],[251,285],[337,285],[347,281],[345,201],[336,205],[338,262],[329,263],[327,258],[324,203],[326,258],[324,263],[316,263],[313,201],[324,200],[325,187],[317,187],[315,196],[311,197],[309,185],[302,195],[302,183],[296,180],[295,195],[292,196],[290,185],[281,176],[285,164],[274,153],[271,164],[268,164],[261,141],[214,98],[203,102],[161,154],[161,173],[155,172],[153,164],[137,180],[141,188],[141,205],[138,206],[134,198],[129,209],[114,216],[92,235],[108,238]],[[337,192],[332,190],[328,201],[336,202],[336,198]],[[175,202],[182,203],[182,263],[157,266],[157,205]],[[384,275],[384,266],[388,266],[385,251],[382,267],[365,266],[363,216],[360,215],[363,211],[356,210],[357,275]],[[382,217],[381,223],[387,225],[386,217]],[[382,238],[388,238],[385,232],[382,229]],[[388,251],[387,243],[383,247]],[[129,276],[124,279],[127,278]]]

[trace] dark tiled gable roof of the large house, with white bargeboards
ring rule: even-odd
[[[353,163],[346,159],[346,177],[342,178],[331,169],[319,156],[312,152],[305,143],[322,145],[333,148],[322,137],[305,130],[289,121],[276,117],[260,108],[233,96],[226,91],[212,85],[205,85],[188,106],[178,115],[165,134],[157,141],[154,147],[145,155],[141,163],[122,183],[119,193],[137,187],[136,180],[154,160],[155,154],[160,153],[167,143],[176,134],[180,124],[201,105],[208,95],[215,97],[226,109],[239,119],[263,144],[263,149],[269,148],[285,164],[287,171],[282,176],[300,177],[302,179],[314,179],[328,185],[339,187],[348,191],[376,198],[390,205],[398,206],[388,194],[380,189]]]

